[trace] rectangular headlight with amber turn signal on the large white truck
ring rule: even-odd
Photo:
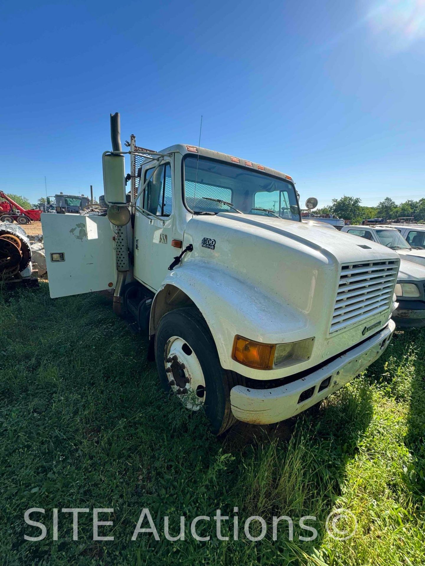
[[[286,344],[264,344],[235,336],[232,358],[244,366],[258,370],[293,366],[310,359],[314,343],[315,338],[307,338]]]

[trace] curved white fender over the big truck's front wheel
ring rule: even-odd
[[[174,292],[173,292],[174,288]],[[180,289],[197,306],[209,325],[222,367],[254,379],[273,379],[281,370],[256,370],[232,359],[235,335],[251,340],[279,344],[308,338],[311,327],[307,316],[247,281],[230,275],[216,263],[191,259],[170,272],[154,297],[150,335],[154,335],[165,312],[188,304],[176,298]],[[179,293],[177,293],[179,295]],[[181,297],[184,295],[180,294]],[[189,301],[189,303],[190,303]],[[285,368],[291,374],[293,368]]]

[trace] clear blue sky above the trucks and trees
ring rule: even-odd
[[[292,175],[304,201],[425,196],[425,3],[8,2],[0,188],[103,193],[122,141],[197,144]]]

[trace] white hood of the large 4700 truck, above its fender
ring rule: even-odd
[[[307,314],[316,310],[329,331],[341,264],[396,261],[389,248],[311,222],[259,215],[197,215],[186,224],[186,261],[214,263],[279,302]],[[321,329],[320,332],[322,332]]]

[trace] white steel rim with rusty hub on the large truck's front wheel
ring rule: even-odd
[[[201,364],[188,342],[168,339],[164,349],[165,375],[173,393],[186,409],[198,411],[205,404],[206,387]]]

